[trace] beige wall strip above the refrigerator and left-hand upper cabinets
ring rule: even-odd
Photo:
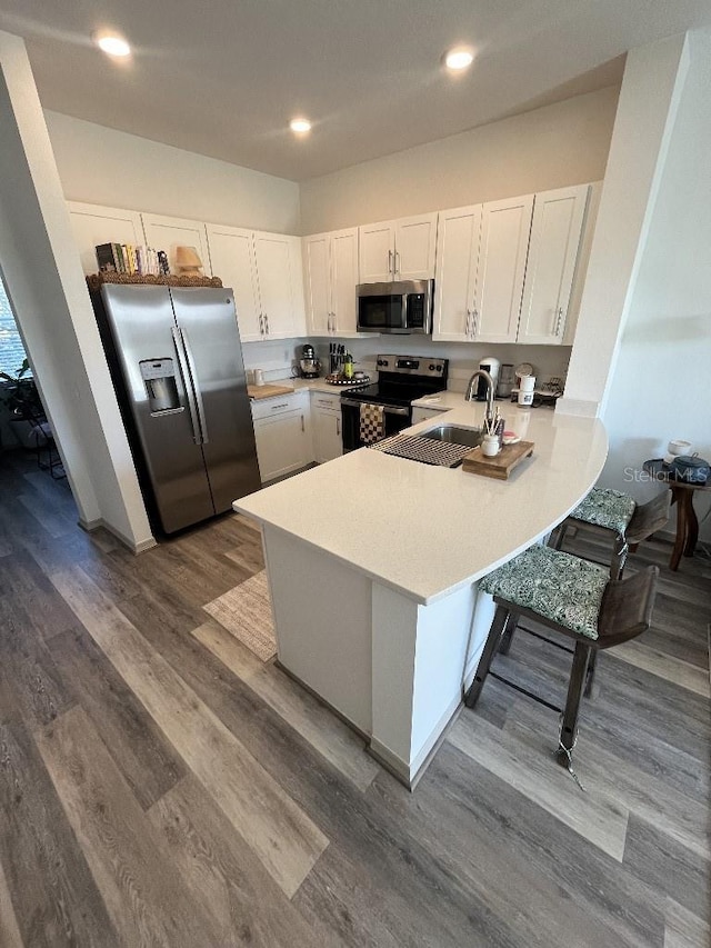
[[[300,233],[293,181],[58,112],[46,120],[68,200]]]

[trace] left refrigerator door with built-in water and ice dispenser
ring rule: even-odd
[[[101,292],[143,488],[160,526],[172,533],[211,517],[214,508],[170,293],[167,287],[121,285],[104,285]]]

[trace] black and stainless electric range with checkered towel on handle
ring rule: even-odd
[[[362,406],[382,407],[378,437],[397,435],[412,423],[412,402],[447,388],[448,359],[429,356],[378,356],[378,381],[341,395],[343,451],[372,443],[364,437]]]

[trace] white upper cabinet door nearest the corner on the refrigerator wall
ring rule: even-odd
[[[298,336],[292,239],[280,233],[254,233],[254,259],[261,311],[270,339]]]

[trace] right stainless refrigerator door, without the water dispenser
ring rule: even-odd
[[[230,289],[171,287],[192,375],[214,509],[259,490],[257,447]]]

